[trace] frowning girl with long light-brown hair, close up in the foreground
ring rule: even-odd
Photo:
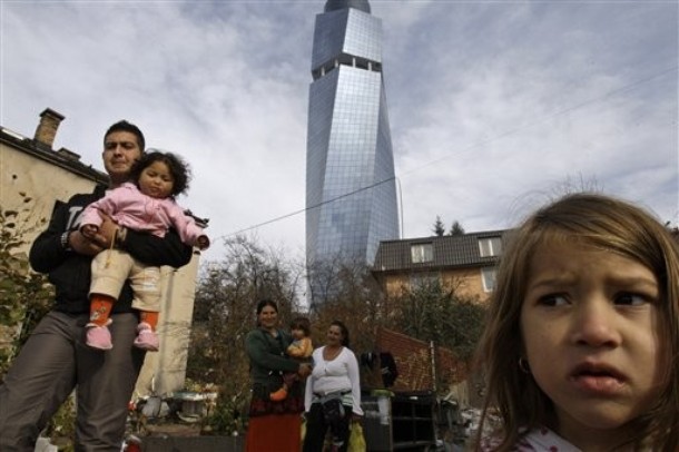
[[[569,195],[512,233],[482,337],[476,450],[679,450],[679,246],[649,214]],[[489,411],[502,426],[483,438]]]

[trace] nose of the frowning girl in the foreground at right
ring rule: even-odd
[[[590,347],[616,347],[620,344],[620,332],[616,326],[618,314],[604,298],[590,298],[577,303],[571,318],[572,342]]]

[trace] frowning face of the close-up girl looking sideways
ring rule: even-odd
[[[580,449],[620,442],[657,400],[667,366],[659,297],[656,275],[619,254],[573,243],[535,253],[521,309],[525,354],[558,433]]]

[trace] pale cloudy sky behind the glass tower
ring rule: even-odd
[[[437,215],[511,227],[568,187],[679,223],[677,0],[370,3],[404,237],[431,235]],[[210,218],[208,261],[240,232],[303,256],[324,0],[0,4],[0,125],[32,137],[52,108],[55,147],[101,168],[102,134],[126,118],[191,164],[179,203]]]

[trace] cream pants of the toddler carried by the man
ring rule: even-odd
[[[134,308],[160,312],[159,267],[147,266],[119,249],[106,249],[92,259],[90,295],[101,294],[118,299],[127,279],[135,294]]]

